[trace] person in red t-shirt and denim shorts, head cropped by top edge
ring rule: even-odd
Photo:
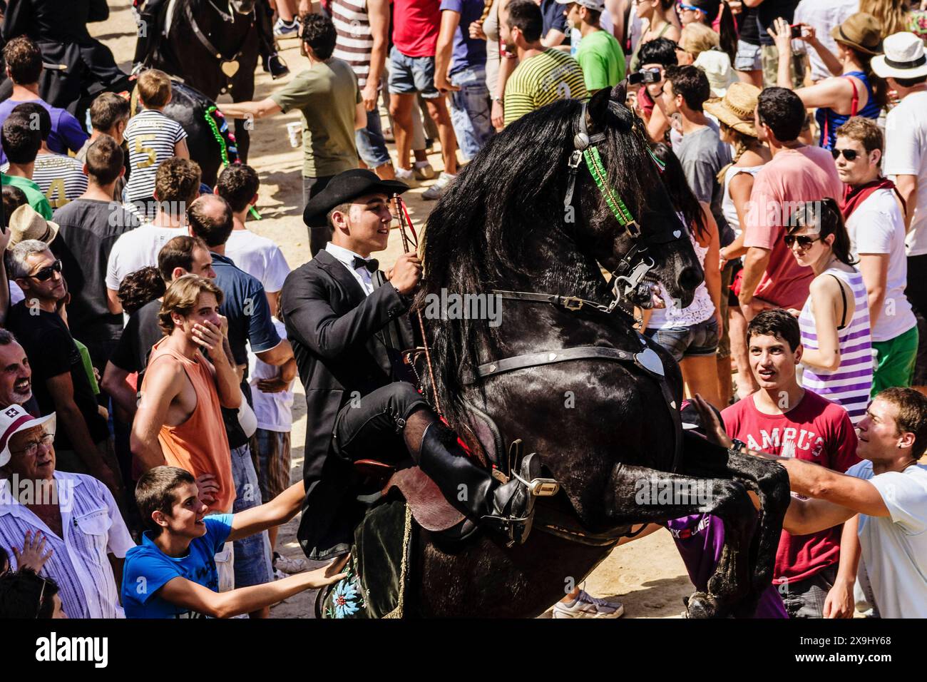
[[[457,175],[457,137],[444,93],[435,87],[435,48],[441,25],[440,0],[395,0],[393,3],[393,47],[389,51],[389,115],[393,118],[400,172],[410,172],[412,111],[416,93],[422,93],[428,114],[438,123],[444,171],[429,188],[426,199],[438,199]],[[430,194],[429,194],[430,193]]]

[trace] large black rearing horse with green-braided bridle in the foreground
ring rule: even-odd
[[[536,616],[563,597],[565,584],[590,573],[632,525],[700,512],[724,521],[725,546],[707,593],[689,598],[690,615],[750,615],[770,584],[788,506],[785,471],[697,439],[685,439],[677,457],[679,367],[642,341],[629,315],[588,303],[607,307],[612,298],[600,265],[627,276],[653,259],[651,272],[682,305],[692,302],[703,277],[643,125],[624,98],[617,86],[597,93],[588,109],[559,101],[514,122],[470,162],[428,218],[417,306],[442,290],[551,296],[507,294],[498,327],[487,319],[427,325],[451,426],[463,432],[471,418],[467,404],[476,405],[506,441],[522,438],[527,452],[540,453],[561,493],[552,506],[540,499],[524,545],[505,547],[480,534],[449,547],[423,532],[413,573],[421,615]],[[569,161],[590,139],[607,174],[603,187],[615,191],[609,200],[617,197],[640,225],[638,237],[635,225],[616,218],[591,165],[575,164],[570,180]],[[692,224],[692,215],[683,217]],[[581,350],[562,362],[564,349]],[[639,495],[667,486],[670,494],[659,499],[655,492]],[[687,490],[692,494],[680,493]],[[759,496],[758,517],[748,490]]]

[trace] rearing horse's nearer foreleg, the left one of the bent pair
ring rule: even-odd
[[[612,472],[606,514],[615,525],[663,524],[699,513],[714,514],[724,522],[724,548],[707,594],[696,592],[687,606],[693,617],[726,616],[750,592],[747,554],[753,504],[743,484],[622,464]]]

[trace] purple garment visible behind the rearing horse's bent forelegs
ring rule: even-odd
[[[724,547],[724,521],[712,514],[693,514],[667,521],[679,555],[695,589],[706,592]],[[779,592],[770,583],[759,599],[754,618],[788,618]]]

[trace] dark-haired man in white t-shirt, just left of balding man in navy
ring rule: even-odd
[[[168,159],[155,175],[158,213],[150,223],[121,235],[107,262],[107,297],[110,313],[121,313],[119,285],[123,277],[148,265],[158,265],[158,252],[172,238],[189,235],[186,208],[199,196],[199,164],[189,159]]]

